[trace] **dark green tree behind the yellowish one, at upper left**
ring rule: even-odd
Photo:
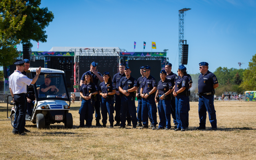
[[[16,38],[21,40],[22,44],[32,47],[31,40],[46,42],[47,35],[44,30],[49,23],[53,21],[54,15],[48,8],[39,8],[41,0],[27,0],[26,9],[22,12],[27,15],[27,19],[21,30],[16,32]]]

